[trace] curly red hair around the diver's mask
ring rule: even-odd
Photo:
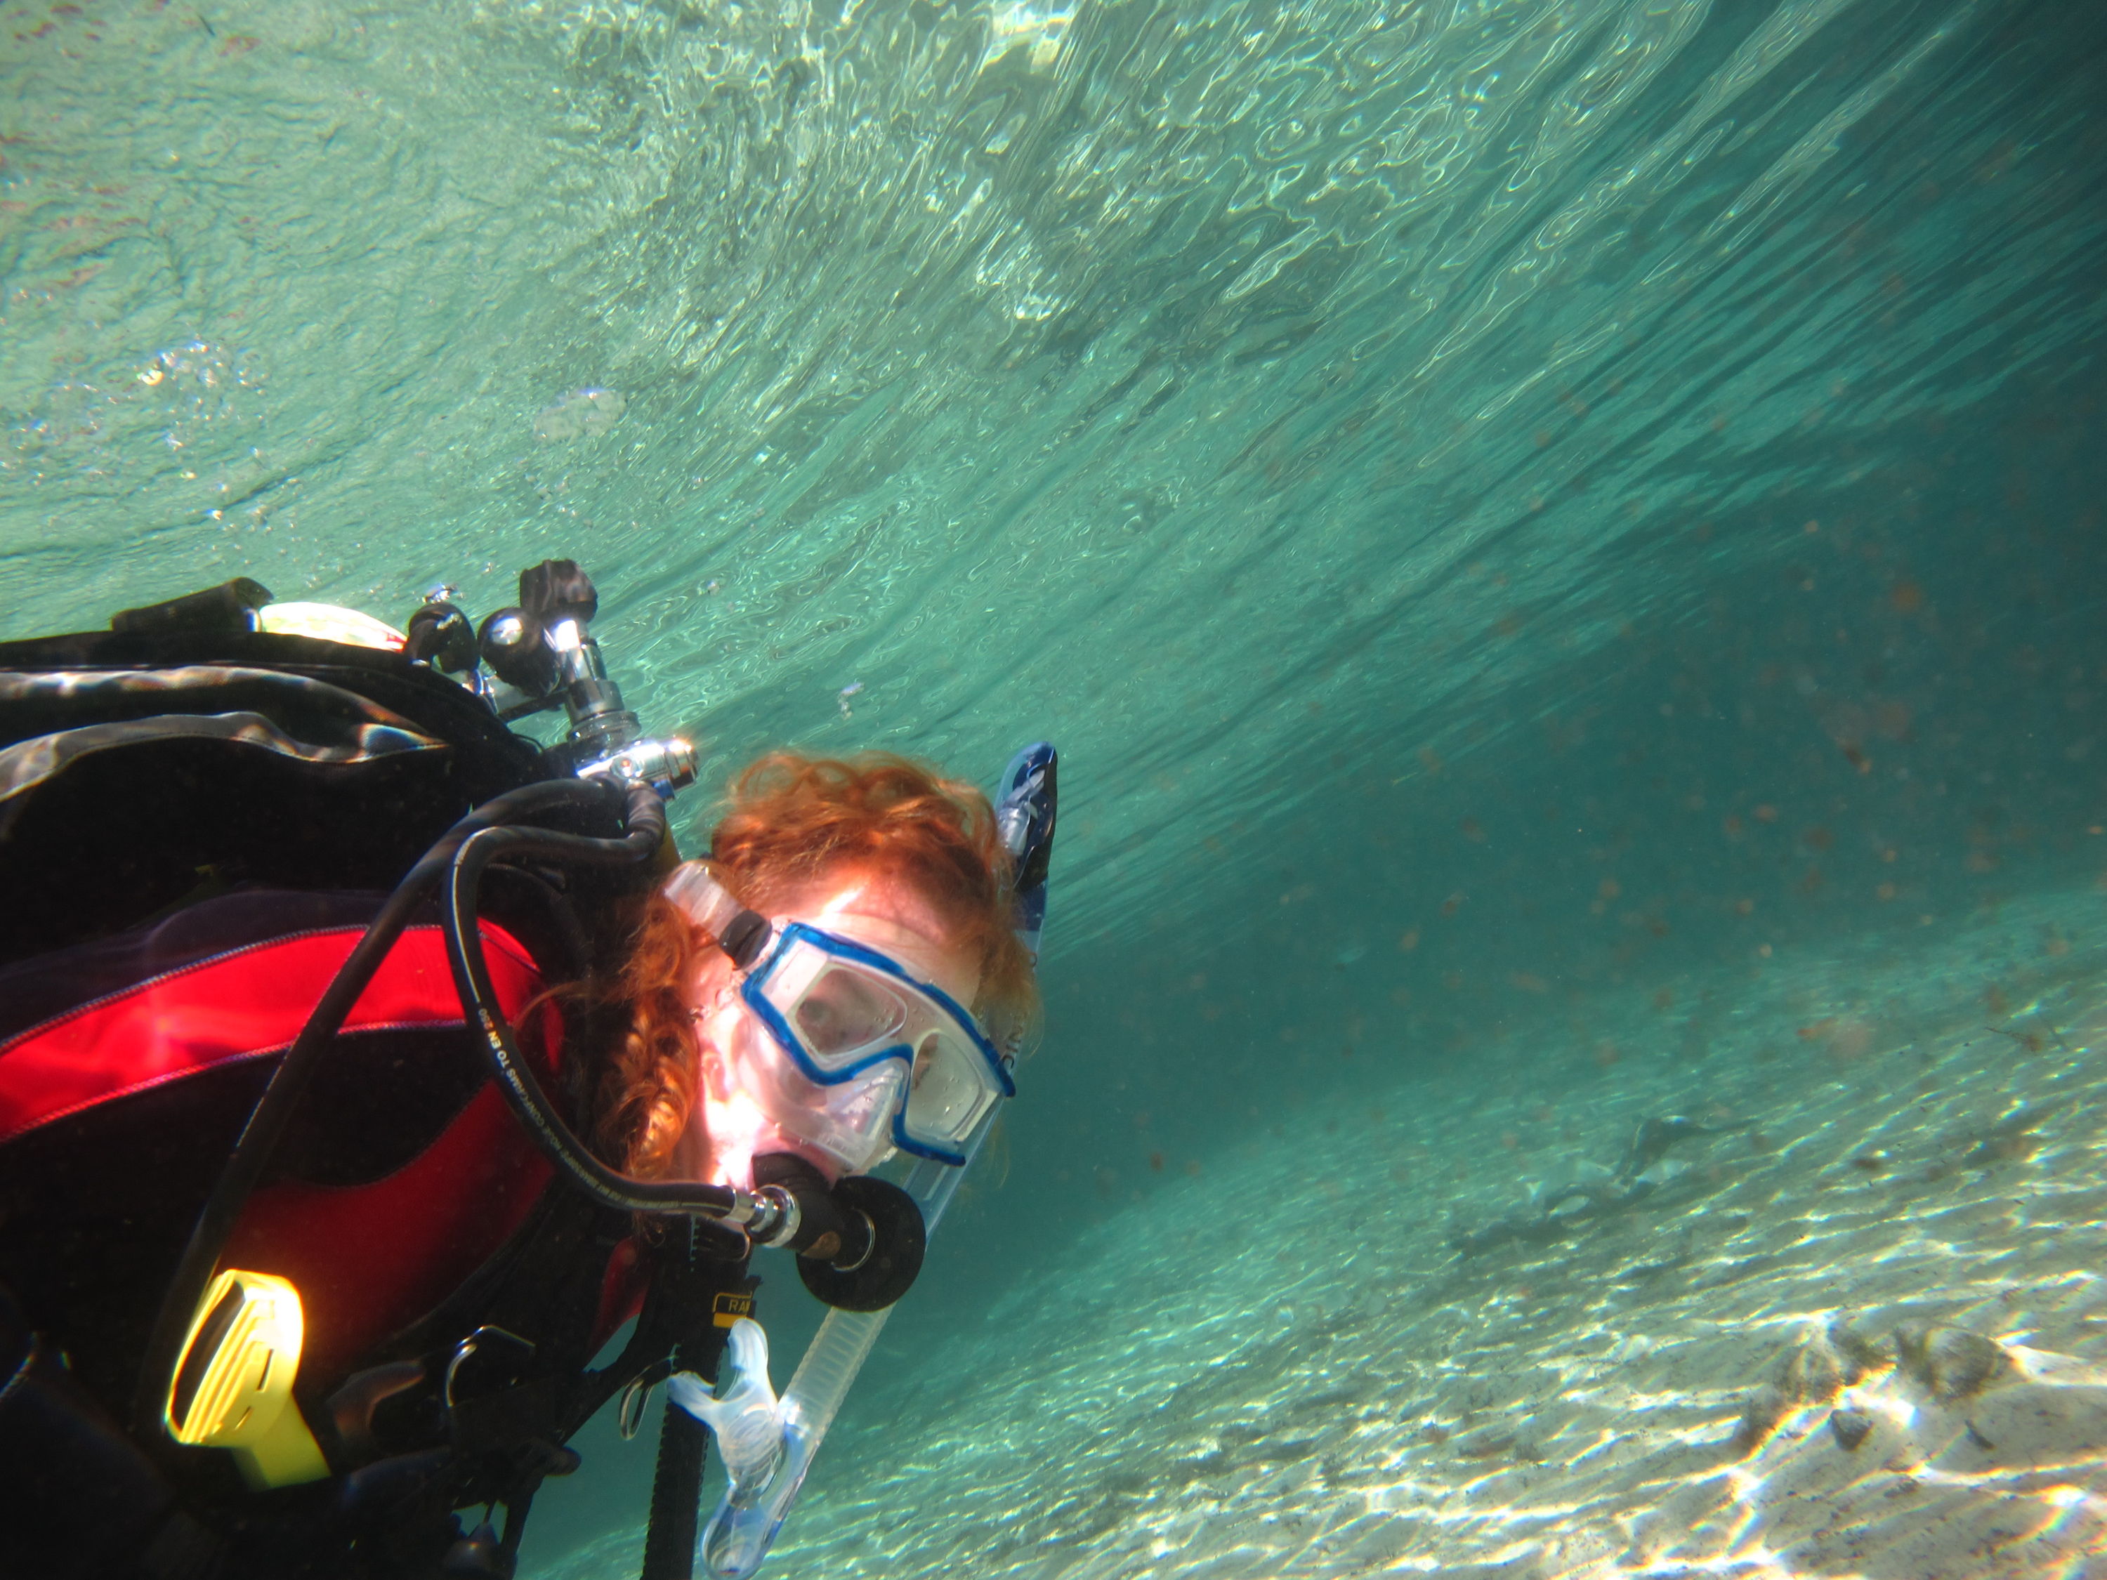
[[[904,756],[771,752],[727,792],[708,864],[763,914],[841,872],[912,887],[980,961],[973,1015],[997,1045],[1020,1047],[1039,1015],[1032,961],[1018,942],[1013,864],[988,798]],[[664,1173],[695,1108],[695,1026],[687,986],[714,940],[659,893],[603,1007],[622,1034],[598,1077],[594,1140],[630,1173]]]

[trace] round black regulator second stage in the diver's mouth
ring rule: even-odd
[[[895,1184],[851,1173],[830,1186],[796,1152],[754,1159],[754,1192],[790,1201],[777,1239],[796,1251],[796,1275],[836,1310],[885,1310],[921,1272],[929,1237],[921,1207]]]

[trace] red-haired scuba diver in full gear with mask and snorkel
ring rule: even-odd
[[[775,752],[681,862],[590,579],[453,596],[0,643],[0,1574],[510,1576],[659,1382],[643,1574],[752,1574],[1016,1091],[1049,746]]]

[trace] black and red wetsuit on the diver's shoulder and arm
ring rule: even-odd
[[[0,1268],[114,1409],[272,1062],[375,904],[230,893],[0,969]],[[485,940],[516,1018],[541,973],[504,929],[485,923]],[[550,1005],[531,1024],[558,1041]],[[504,1245],[550,1167],[464,1034],[436,923],[388,954],[306,1110],[221,1264],[293,1281],[303,1393],[327,1395]]]

